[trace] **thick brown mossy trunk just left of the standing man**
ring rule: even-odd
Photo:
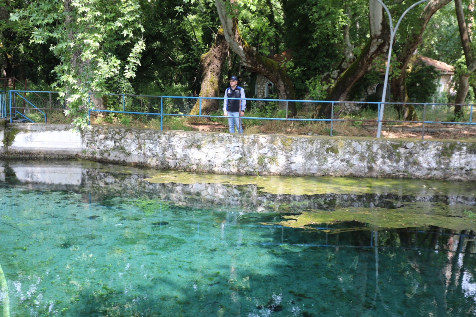
[[[223,28],[220,28],[215,36],[215,42],[211,49],[200,57],[200,69],[202,83],[200,86],[199,97],[219,97],[221,70],[228,53],[228,42],[223,35]],[[219,99],[202,99],[203,115],[208,115],[219,109]],[[195,102],[190,114],[198,115],[200,100]]]

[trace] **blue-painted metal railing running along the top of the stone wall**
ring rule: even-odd
[[[20,96],[22,99],[25,99],[31,106],[33,106],[35,109],[38,109],[41,113],[45,115],[45,122],[46,122],[46,114],[41,111],[38,107],[33,105],[30,101],[28,101],[26,98],[21,96],[19,93],[24,93],[24,92],[32,92],[32,93],[58,93],[55,91],[32,91],[32,90],[10,90],[9,91],[9,103],[10,103],[10,114],[12,113],[12,94],[16,94]],[[90,93],[89,95],[94,94]],[[227,116],[218,116],[218,115],[202,115],[202,99],[218,99],[218,100],[224,100],[224,99],[240,99],[240,98],[224,98],[224,97],[188,97],[188,96],[153,96],[153,95],[132,95],[132,94],[106,94],[108,96],[119,96],[121,97],[121,102],[122,102],[122,111],[120,110],[101,110],[101,109],[88,109],[88,119],[90,117],[91,112],[109,112],[109,113],[124,113],[124,114],[138,114],[138,115],[150,115],[150,116],[160,116],[160,130],[163,129],[163,118],[164,116],[180,116],[180,117],[203,117],[203,118],[229,118]],[[158,107],[155,109],[156,112],[147,112],[147,111],[126,111],[126,97],[140,97],[140,98],[157,98],[160,99],[160,109]],[[50,97],[51,99],[51,97]],[[198,115],[191,115],[191,114],[183,114],[183,113],[164,113],[164,99],[198,99]],[[417,121],[408,121],[408,120],[380,120],[380,111],[383,108],[383,103],[381,102],[368,102],[368,101],[327,101],[327,100],[301,100],[301,99],[258,99],[258,98],[243,98],[248,101],[266,101],[266,102],[282,102],[286,103],[286,116],[285,118],[269,118],[269,117],[241,117],[241,119],[258,119],[258,120],[287,120],[287,121],[326,121],[330,123],[330,136],[333,136],[333,124],[334,122],[344,122],[344,121],[360,121],[360,122],[374,122],[374,123],[379,123],[379,122],[387,122],[387,123],[421,123],[422,124],[422,139],[424,137],[424,130],[425,130],[425,124],[427,123],[440,123],[440,124],[459,124],[459,125],[471,125],[474,126],[476,125],[476,122],[473,122],[473,107],[475,106],[474,104],[464,104],[461,106],[467,106],[470,107],[469,109],[469,120],[467,122],[457,122],[457,121],[432,121],[432,120],[425,120],[426,116],[426,110],[428,106],[454,106],[455,104],[442,104],[442,103],[402,103],[402,102],[386,102],[385,105],[420,105],[423,107],[423,115],[421,120]],[[88,100],[90,102],[90,98]],[[288,104],[289,102],[302,102],[302,103],[326,103],[326,104],[331,104],[331,118],[329,119],[320,119],[320,118],[289,118],[288,117]],[[336,104],[344,104],[344,103],[349,103],[349,104],[354,104],[354,105],[375,105],[377,107],[377,119],[374,120],[366,120],[366,119],[334,119],[334,113],[335,113],[335,108]],[[0,104],[1,108],[1,104]],[[21,108],[21,107],[14,107],[14,108]],[[0,109],[1,111],[1,109]],[[15,110],[15,113],[18,113],[18,111]],[[23,114],[21,114],[24,116]],[[6,110],[5,110],[5,117],[6,117]],[[10,115],[10,122],[11,122],[11,115]],[[24,116],[27,119],[29,119],[27,116]],[[31,121],[31,120],[30,120]],[[88,121],[88,124],[90,124],[90,121]]]

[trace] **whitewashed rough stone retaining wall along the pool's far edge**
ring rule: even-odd
[[[13,123],[2,157],[64,158],[200,173],[476,180],[476,141],[159,131]]]

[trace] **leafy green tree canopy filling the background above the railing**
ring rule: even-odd
[[[415,2],[384,1],[394,24]],[[474,0],[459,2],[471,39]],[[464,69],[475,44],[469,41],[463,52],[456,13],[450,0],[430,0],[408,12],[394,43],[390,100],[402,100],[406,83],[421,76],[423,66],[411,67],[415,54],[463,69],[458,74],[467,75],[472,89],[473,75]],[[220,27],[228,46],[218,48]],[[280,98],[364,100],[368,94],[357,90],[383,77],[389,21],[376,0],[6,0],[0,3],[0,43],[3,77],[60,89],[81,126],[91,92],[127,86],[122,90],[161,94],[174,87],[204,95],[210,77],[200,60],[214,47],[220,51],[211,77],[215,94],[233,74],[252,97],[252,74],[260,73],[276,81]],[[285,50],[291,58],[282,64],[266,59]],[[420,75],[405,76],[410,69]]]

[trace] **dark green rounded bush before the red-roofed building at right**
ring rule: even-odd
[[[439,71],[434,66],[423,62],[413,64],[407,73],[407,94],[411,102],[430,102],[438,88],[437,79]]]

